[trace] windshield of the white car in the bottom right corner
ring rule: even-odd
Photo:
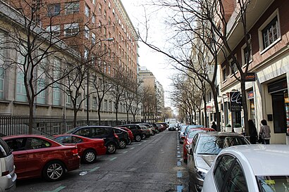
[[[289,191],[289,176],[258,176],[260,192]]]

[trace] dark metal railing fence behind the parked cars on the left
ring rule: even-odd
[[[77,127],[87,125],[86,120],[77,120]],[[123,124],[118,122],[118,124]],[[90,125],[99,125],[97,120],[90,120]],[[116,126],[116,121],[102,121],[102,125]],[[73,129],[73,119],[64,117],[35,117],[32,133],[51,136],[63,134]],[[29,134],[29,116],[0,115],[0,136]]]

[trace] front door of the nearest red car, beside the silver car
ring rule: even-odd
[[[14,164],[18,177],[25,177],[27,168],[27,151],[25,150],[26,138],[6,140],[8,146],[13,150]]]

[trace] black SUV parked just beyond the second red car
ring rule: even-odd
[[[106,146],[107,154],[116,153],[116,149],[119,147],[118,136],[113,132],[112,127],[109,126],[76,127],[66,132],[66,134],[76,134],[91,139],[104,139],[104,146]]]

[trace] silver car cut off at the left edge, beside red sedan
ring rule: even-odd
[[[11,148],[0,138],[0,191],[15,191],[16,179],[14,157]]]

